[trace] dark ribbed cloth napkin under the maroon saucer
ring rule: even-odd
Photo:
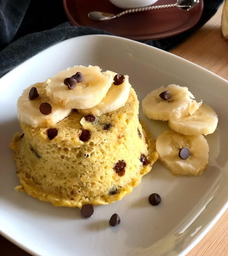
[[[202,16],[193,28],[173,37],[143,43],[170,50],[201,28],[223,2],[204,0]],[[1,0],[0,77],[45,48],[68,38],[91,34],[110,35],[95,28],[71,26],[61,0]]]

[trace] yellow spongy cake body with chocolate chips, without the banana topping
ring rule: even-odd
[[[54,206],[81,208],[121,200],[157,160],[151,134],[138,120],[138,108],[131,88],[123,107],[93,122],[73,111],[57,123],[57,136],[51,140],[48,128],[20,122],[24,134],[16,133],[10,144],[21,183],[18,189]],[[82,129],[91,134],[86,142],[79,139]],[[142,154],[149,160],[146,164]],[[116,164],[121,162],[126,166],[117,173]]]

